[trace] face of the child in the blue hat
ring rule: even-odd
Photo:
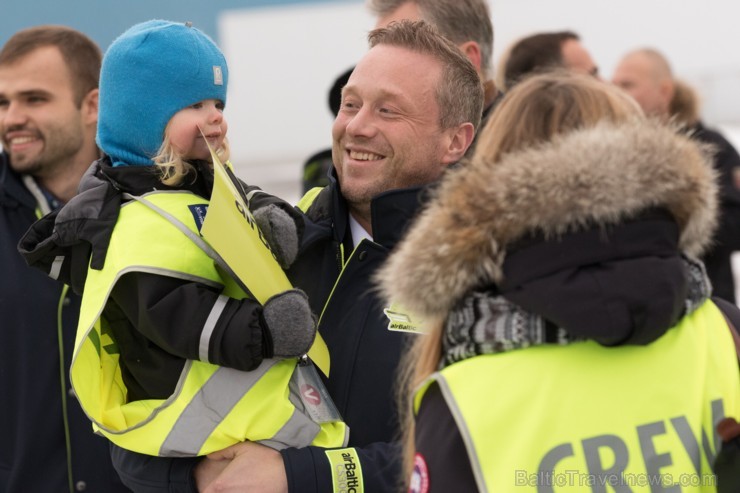
[[[167,135],[183,159],[211,160],[203,135],[214,151],[221,147],[228,128],[223,110],[224,104],[218,99],[205,99],[181,109],[170,119]]]

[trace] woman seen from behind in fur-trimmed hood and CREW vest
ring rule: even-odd
[[[593,78],[507,94],[378,276],[429,326],[402,379],[411,491],[737,475],[718,452],[740,434],[740,312],[696,260],[714,180],[703,149]]]

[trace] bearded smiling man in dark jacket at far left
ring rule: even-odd
[[[0,491],[125,491],[69,394],[79,298],[16,249],[98,157],[100,50],[61,26],[0,50]]]

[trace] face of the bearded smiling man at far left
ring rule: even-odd
[[[0,56],[0,135],[6,164],[34,177],[54,201],[66,202],[98,156],[94,65],[80,61],[79,67],[70,66],[51,44],[18,53],[21,48],[14,52],[12,43]]]

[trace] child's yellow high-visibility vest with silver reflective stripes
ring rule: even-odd
[[[339,420],[317,423],[299,398],[305,387],[295,358],[267,359],[249,372],[189,360],[168,399],[127,402],[119,348],[101,317],[119,277],[149,272],[222,288],[224,297],[245,297],[194,242],[200,241],[195,216],[207,200],[187,192],[143,198],[170,217],[138,201],[126,203],[104,268],[89,269],[85,283],[71,380],[95,430],[125,449],[162,456],[204,455],[245,439],[273,448],[346,445],[347,426]],[[312,401],[328,397],[315,390]]]

